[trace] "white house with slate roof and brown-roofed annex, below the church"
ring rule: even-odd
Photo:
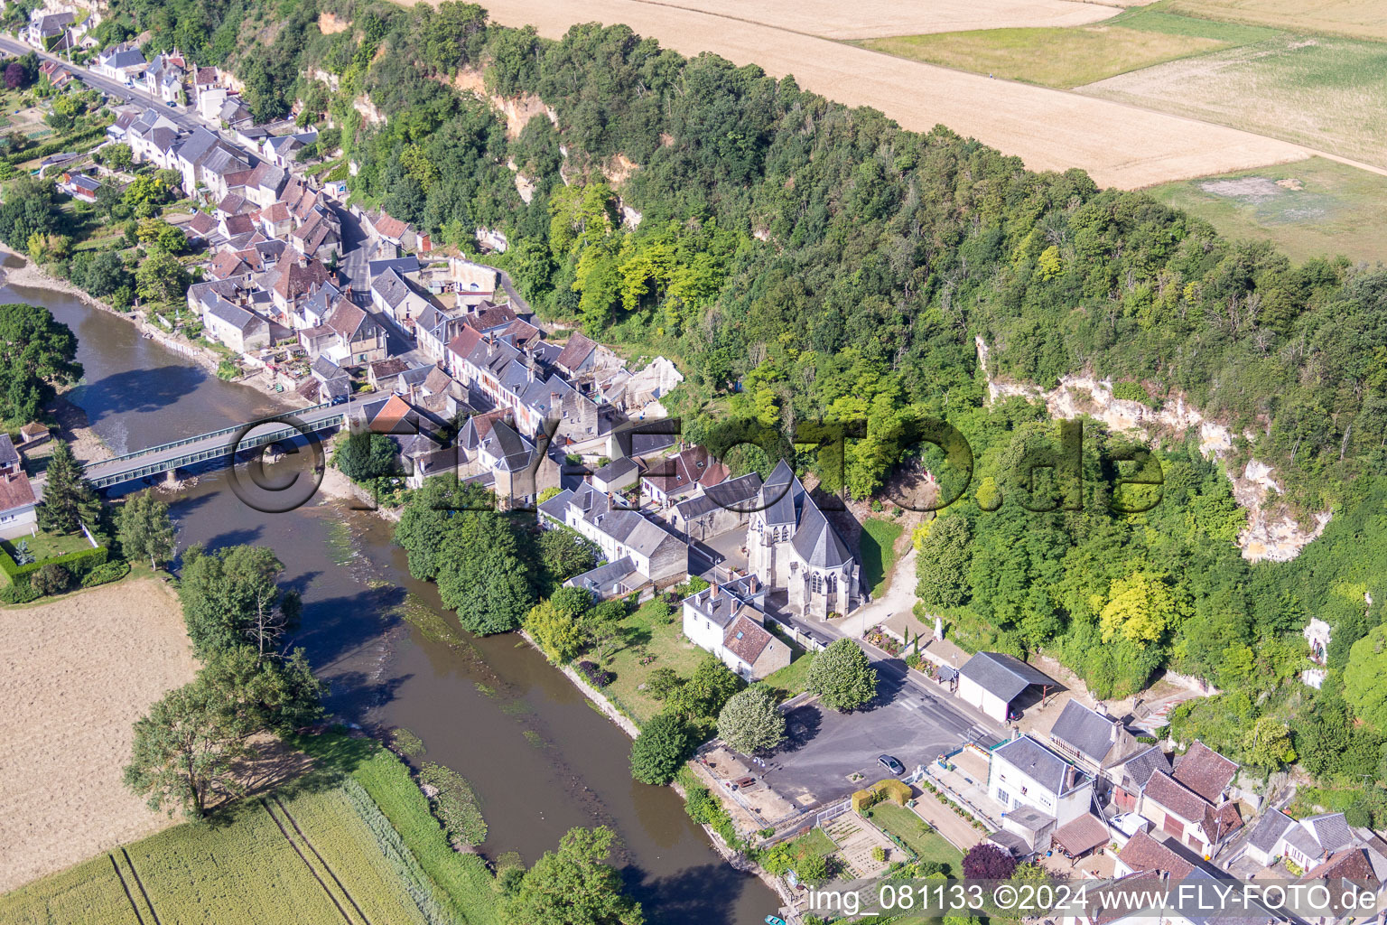
[[[684,635],[748,681],[789,664],[789,646],[766,630],[756,576],[712,584],[681,603]]]

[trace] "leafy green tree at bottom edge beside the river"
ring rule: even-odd
[[[508,925],[644,925],[641,904],[623,893],[608,864],[612,829],[576,828],[526,871],[513,896],[501,900]]]

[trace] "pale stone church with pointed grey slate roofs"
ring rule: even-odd
[[[788,610],[824,620],[859,605],[859,566],[832,524],[782,459],[750,505],[748,570]]]

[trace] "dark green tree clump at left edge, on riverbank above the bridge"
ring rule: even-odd
[[[82,379],[76,356],[78,338],[53,312],[22,302],[0,305],[0,417],[37,417],[58,387]]]

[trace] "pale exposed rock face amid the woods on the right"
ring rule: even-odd
[[[1137,401],[1126,401],[1112,394],[1110,380],[1093,376],[1062,376],[1054,388],[1042,388],[1032,383],[1013,383],[994,377],[988,369],[988,344],[976,338],[978,362],[988,377],[988,398],[997,401],[1019,395],[1043,402],[1053,417],[1072,419],[1087,415],[1101,420],[1114,431],[1137,433],[1150,440],[1162,437],[1183,437],[1191,429],[1198,429],[1200,452],[1208,459],[1232,463],[1233,431],[1223,424],[1208,420],[1197,408],[1184,404],[1183,397],[1160,410]],[[1255,434],[1244,433],[1244,438]],[[1273,470],[1266,463],[1248,459],[1241,476],[1234,476],[1225,466],[1233,483],[1233,496],[1247,508],[1247,528],[1237,537],[1243,557],[1250,562],[1289,562],[1300,555],[1312,539],[1325,531],[1333,516],[1325,510],[1315,515],[1313,527],[1305,528],[1295,521],[1284,506],[1276,502],[1283,494],[1273,478]]]

